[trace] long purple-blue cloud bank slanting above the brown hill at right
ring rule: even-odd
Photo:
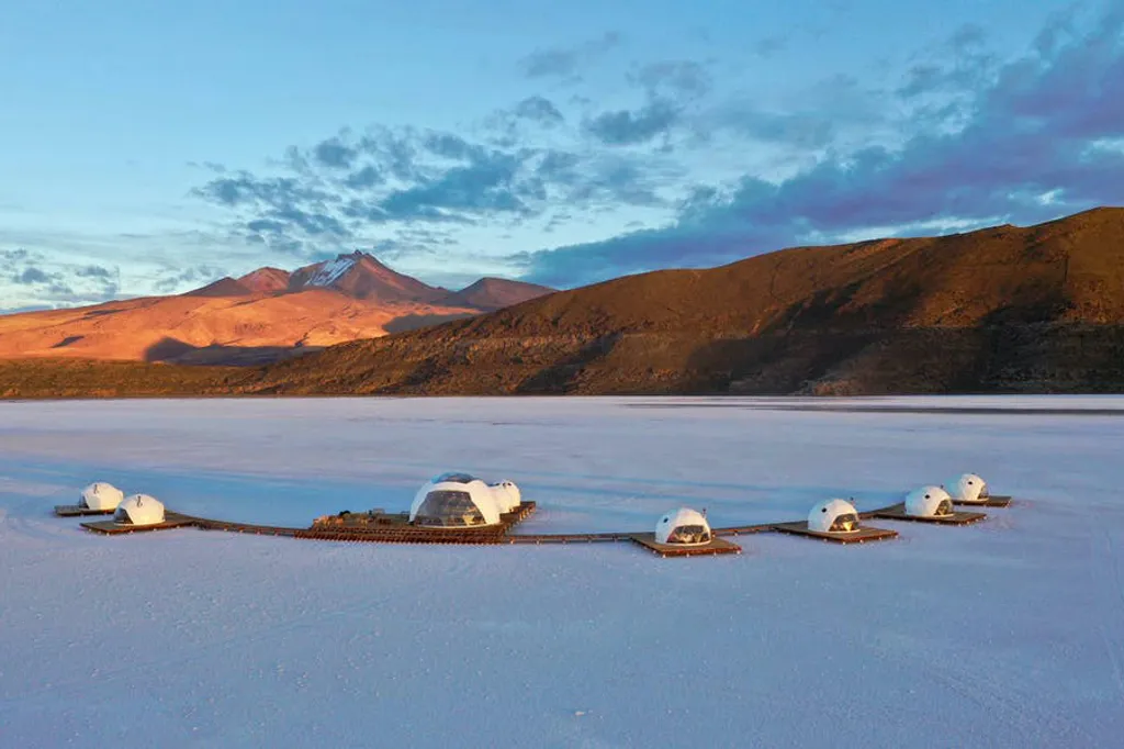
[[[1104,13],[1085,33],[1040,42],[995,65],[982,82],[990,63],[961,75],[950,61],[932,85],[918,85],[910,71],[909,96],[946,91],[962,102],[959,119],[921,108],[916,134],[900,145],[828,151],[787,179],[746,175],[732,190],[704,190],[664,228],[515,260],[532,280],[573,285],[809,241],[1031,224],[1124,204],[1124,150],[1112,145],[1124,142],[1122,31],[1124,9]],[[976,34],[954,42],[961,52],[978,47]]]

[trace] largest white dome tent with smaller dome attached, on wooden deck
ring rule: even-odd
[[[519,488],[511,481],[489,485],[471,473],[442,473],[414,496],[409,518],[427,527],[498,525],[500,515],[520,504]]]

